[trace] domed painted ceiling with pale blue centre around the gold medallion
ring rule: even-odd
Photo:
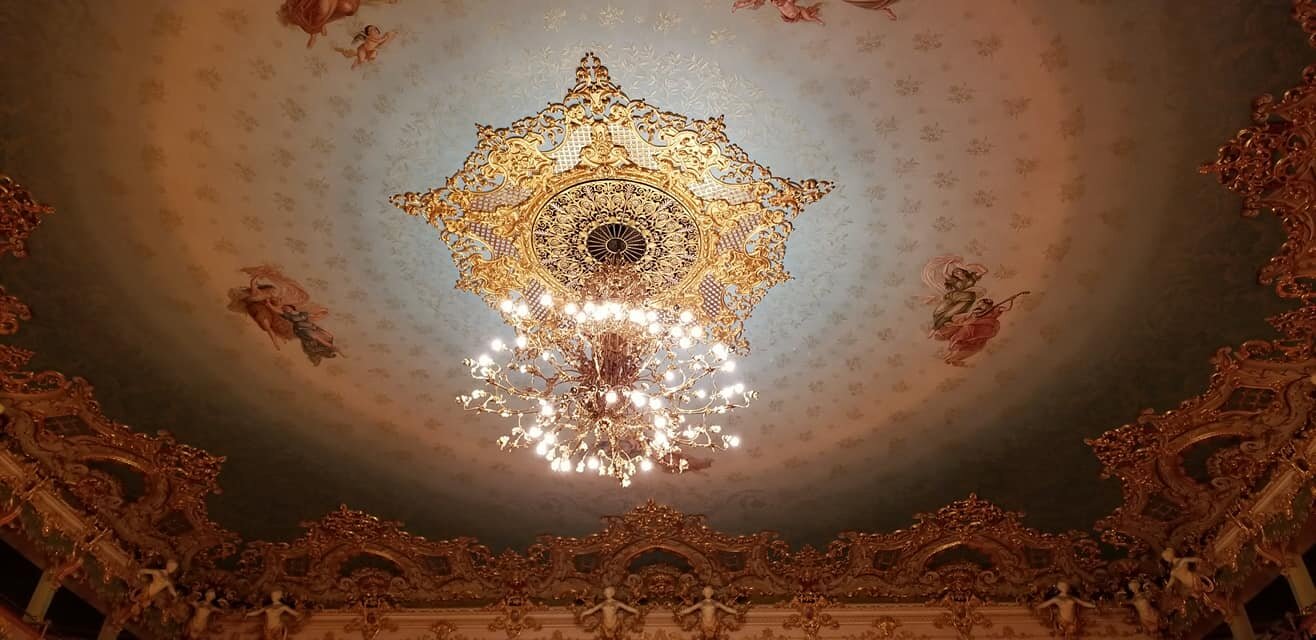
[[[282,4],[0,3],[28,53],[0,66],[0,167],[58,209],[3,274],[34,316],[14,342],[226,456],[211,512],[245,536],[345,502],[522,545],[654,498],[809,541],[970,493],[1088,529],[1119,490],[1083,440],[1199,392],[1282,308],[1255,283],[1278,225],[1195,167],[1307,62],[1284,0]],[[626,490],[462,413],[461,360],[508,332],[387,200],[588,50],[836,183],[746,325],[745,446]]]

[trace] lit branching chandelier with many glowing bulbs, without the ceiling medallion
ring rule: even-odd
[[[691,449],[725,449],[719,416],[757,394],[738,382],[725,345],[708,344],[688,311],[617,302],[555,306],[541,296],[500,306],[516,329],[511,344],[467,360],[480,381],[458,402],[470,411],[515,417],[504,449],[530,448],[562,473],[611,475],[629,486],[655,466],[683,471]]]

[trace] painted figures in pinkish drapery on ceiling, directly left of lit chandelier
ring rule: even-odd
[[[333,333],[317,324],[329,315],[329,309],[312,303],[311,294],[301,284],[270,265],[246,267],[242,273],[250,280],[245,287],[229,290],[229,311],[251,317],[270,336],[275,349],[280,342],[296,338],[316,366],[325,358],[342,356],[334,345]]]

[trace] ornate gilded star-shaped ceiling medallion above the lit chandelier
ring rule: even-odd
[[[505,129],[479,126],[461,171],[392,203],[441,230],[457,287],[495,308],[512,294],[532,307],[544,292],[580,298],[603,263],[590,250],[597,229],[624,228],[642,238],[646,302],[688,309],[745,350],[745,319],[788,279],[795,217],[832,184],[774,176],[724,126],[632,100],[590,53],[561,103]]]

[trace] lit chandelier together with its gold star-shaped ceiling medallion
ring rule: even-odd
[[[629,99],[586,54],[563,101],[479,126],[445,186],[393,196],[511,328],[458,396],[512,424],[501,448],[629,486],[740,445],[724,427],[757,396],[737,377],[744,323],[832,186],[774,176],[722,129]]]

